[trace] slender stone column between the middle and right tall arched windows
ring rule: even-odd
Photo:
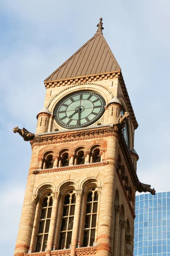
[[[74,212],[73,233],[71,238],[71,256],[76,256],[77,237],[79,231],[79,218],[82,201],[82,189],[76,189],[76,206]]]

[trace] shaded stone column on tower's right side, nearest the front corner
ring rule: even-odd
[[[115,222],[114,222],[114,241],[113,241],[113,255],[118,255],[118,244],[119,244],[119,218],[121,213],[121,206],[115,206]]]

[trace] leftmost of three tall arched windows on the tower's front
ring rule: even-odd
[[[51,211],[53,200],[51,194],[48,194],[42,201],[39,224],[37,228],[37,243],[35,252],[45,251],[50,227]]]

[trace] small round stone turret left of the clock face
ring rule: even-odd
[[[50,117],[52,117],[52,114],[48,108],[43,107],[42,110],[37,114],[38,123],[36,134],[48,132]]]

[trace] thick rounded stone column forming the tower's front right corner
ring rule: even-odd
[[[112,129],[111,132],[113,132]],[[116,166],[118,142],[119,141],[116,134],[115,136],[113,135],[108,137],[108,145],[105,154],[105,160],[107,160],[109,164],[107,166],[104,166],[103,168],[103,186],[102,197],[100,201],[98,234],[96,239],[96,256],[111,256],[112,253],[114,197],[115,180],[117,179]]]

